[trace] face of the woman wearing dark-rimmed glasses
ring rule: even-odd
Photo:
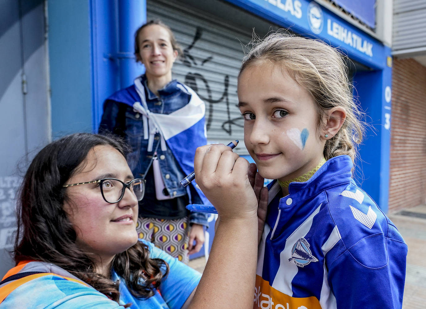
[[[102,178],[116,178],[127,183],[133,179],[124,156],[105,145],[92,148],[75,171],[66,184]],[[104,200],[99,183],[71,186],[66,190],[64,209],[81,249],[99,255],[105,263],[138,241],[138,200],[130,189],[126,189],[123,198],[113,204]]]

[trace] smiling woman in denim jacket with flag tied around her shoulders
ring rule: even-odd
[[[208,223],[206,214],[185,208],[203,204],[204,195],[179,181],[192,172],[195,149],[207,140],[204,102],[172,80],[180,52],[164,23],[151,20],[142,25],[135,32],[135,56],[146,72],[105,101],[99,132],[124,137],[132,147],[127,162],[133,175],[147,180],[146,197],[139,203],[139,237],[188,263],[188,255],[201,249]],[[179,111],[183,115],[175,117]]]

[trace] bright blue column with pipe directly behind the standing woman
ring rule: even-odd
[[[134,33],[147,20],[146,0],[91,0],[92,131],[98,132],[103,103],[144,72],[134,57]]]

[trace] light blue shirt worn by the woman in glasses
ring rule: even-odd
[[[152,243],[143,242],[148,245],[150,257],[165,260],[169,264],[170,272],[166,278],[161,280],[159,292],[155,291],[155,295],[145,300],[134,298],[124,281],[121,280],[120,304],[132,303],[130,306],[132,309],[180,309],[198,285],[201,274],[156,248]],[[35,271],[35,269],[23,269],[23,271]],[[47,269],[42,271],[50,272]],[[74,277],[70,274],[67,276],[61,273],[60,275]],[[112,280],[118,279],[120,279],[118,275],[113,272]],[[123,306],[90,286],[46,275],[19,286],[3,300],[0,308],[118,309]]]

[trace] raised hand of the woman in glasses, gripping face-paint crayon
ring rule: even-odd
[[[257,214],[258,200],[248,177],[249,163],[229,146],[197,148],[194,171],[197,184],[221,220],[246,219]]]

